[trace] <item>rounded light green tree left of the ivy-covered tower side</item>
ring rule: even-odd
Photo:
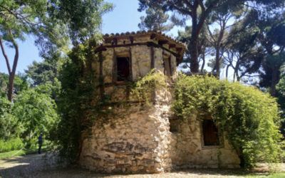
[[[12,108],[18,125],[21,125],[21,138],[31,146],[33,135],[43,132],[48,135],[58,122],[56,103],[47,93],[36,88],[25,90],[16,96]]]

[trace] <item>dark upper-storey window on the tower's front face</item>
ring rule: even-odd
[[[130,79],[130,62],[129,58],[117,58],[117,81]]]

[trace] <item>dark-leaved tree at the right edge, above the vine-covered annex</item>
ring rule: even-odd
[[[259,28],[259,42],[266,51],[266,58],[262,62],[261,87],[269,87],[272,96],[276,96],[276,85],[280,80],[280,68],[285,62],[285,13],[265,17],[257,21]]]

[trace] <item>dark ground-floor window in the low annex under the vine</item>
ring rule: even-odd
[[[203,120],[202,122],[204,146],[218,146],[219,134],[213,120]]]

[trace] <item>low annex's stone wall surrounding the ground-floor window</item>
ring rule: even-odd
[[[224,134],[220,137],[220,146],[203,146],[202,123],[195,115],[188,120],[171,122],[176,122],[177,127],[177,131],[171,134],[173,168],[239,167],[239,157]]]

